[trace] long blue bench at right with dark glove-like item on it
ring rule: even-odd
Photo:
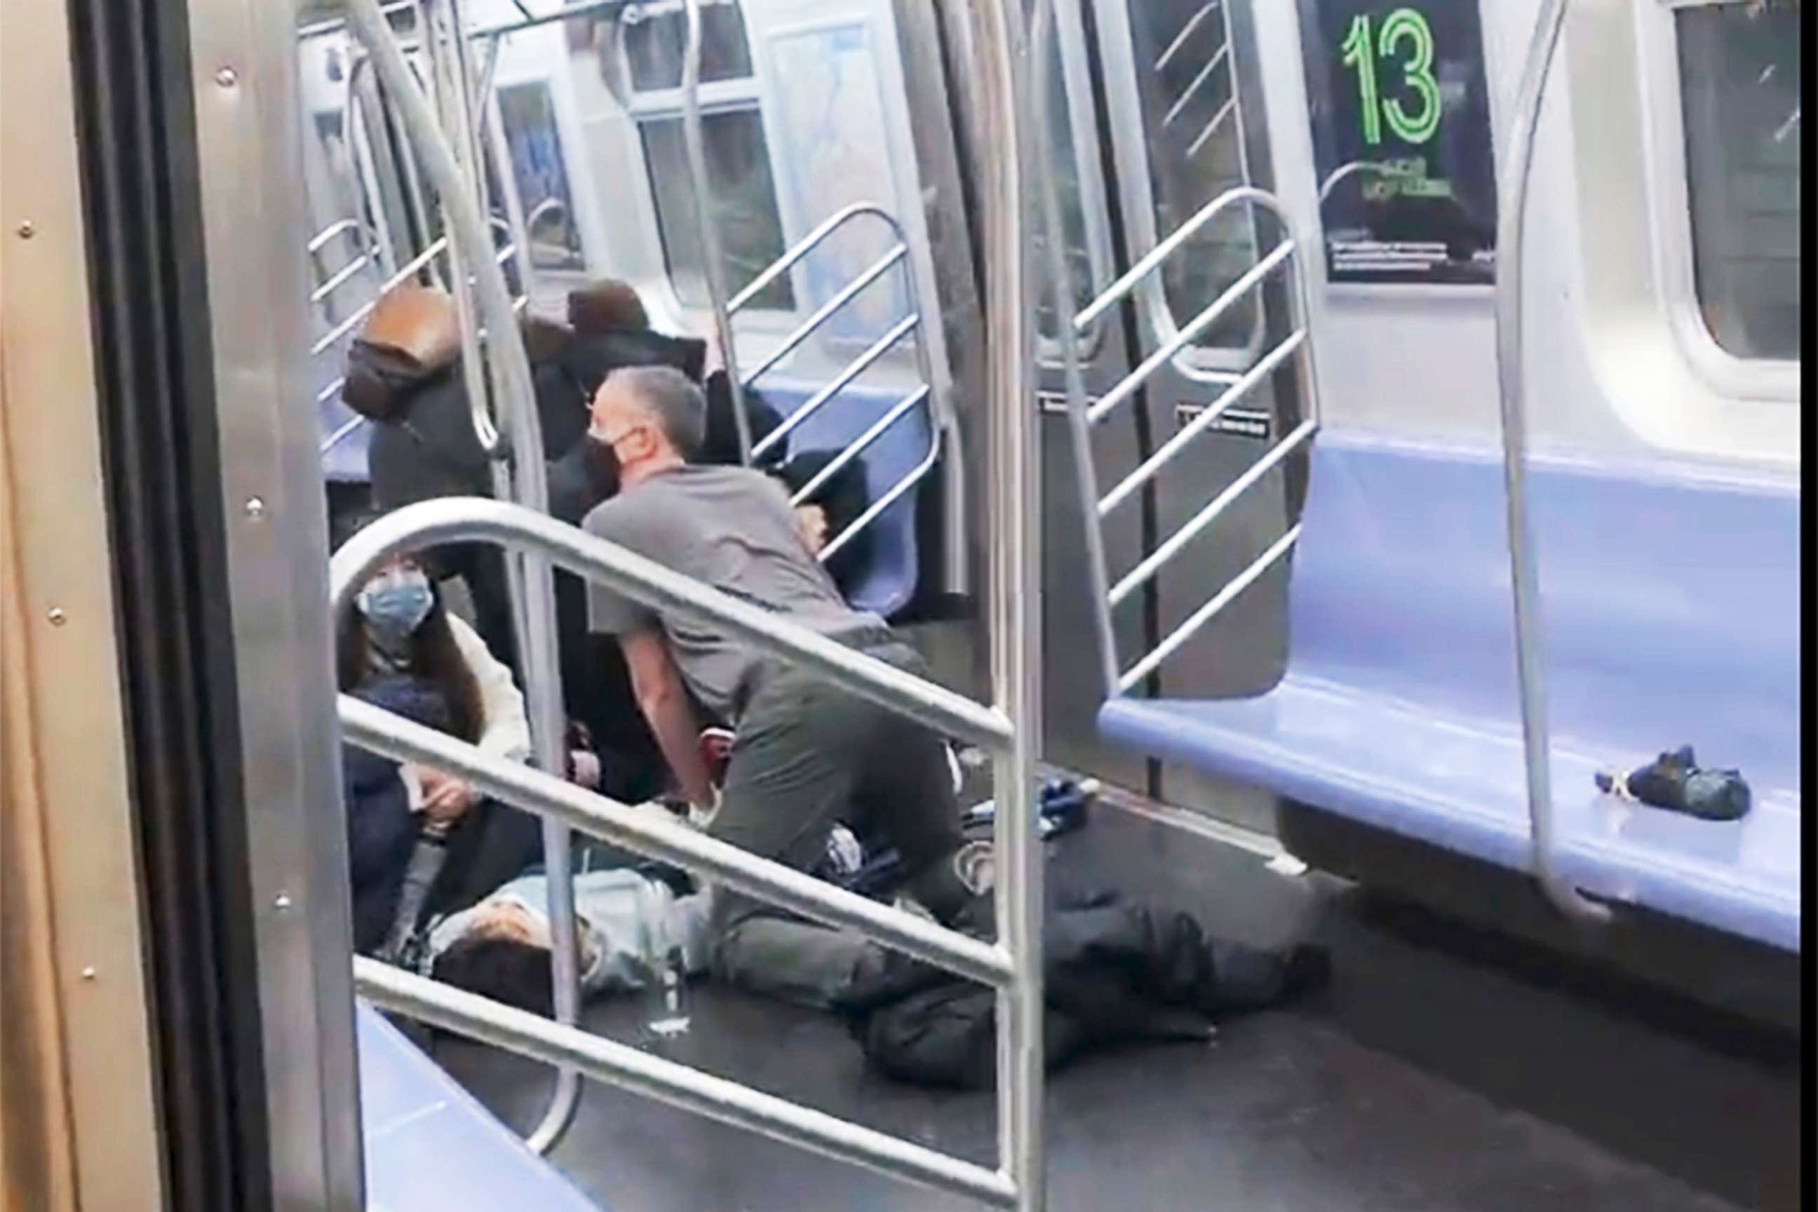
[[[1798,950],[1800,494],[1709,471],[1536,462],[1558,867]],[[1104,705],[1133,749],[1529,869],[1502,462],[1324,431],[1258,698]],[[1214,623],[1216,625],[1216,623]],[[1754,807],[1700,821],[1600,794],[1691,743]]]

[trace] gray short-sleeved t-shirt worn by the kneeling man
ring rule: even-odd
[[[582,527],[696,581],[784,614],[824,636],[882,627],[840,596],[796,531],[782,485],[744,467],[676,467],[602,502]],[[767,658],[720,627],[662,616],[613,589],[587,585],[596,632],[660,627],[682,680],[702,707],[736,723]]]

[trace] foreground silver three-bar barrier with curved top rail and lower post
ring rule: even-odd
[[[1027,516],[1018,525],[1027,527]],[[329,567],[336,614],[373,571],[389,560],[451,541],[489,541],[534,551],[576,576],[600,581],[656,611],[682,611],[738,634],[754,647],[785,656],[854,694],[920,720],[945,734],[971,738],[996,758],[1005,783],[1025,783],[1027,740],[1000,709],[989,709],[887,661],[849,649],[744,598],[702,585],[634,552],[585,534],[547,514],[480,498],[444,498],[396,511],[360,531]],[[1000,589],[1007,585],[1000,580]],[[1000,594],[1000,598],[1011,594]],[[1033,609],[1027,601],[1022,609]],[[1000,632],[1002,636],[1002,632]],[[1024,634],[1002,636],[1022,645]],[[1005,661],[1016,674],[1018,661]],[[1005,689],[998,680],[1000,692]],[[1020,685],[1020,683],[1016,683]],[[845,1161],[909,1181],[954,1190],[1005,1208],[1040,1208],[1040,1081],[1042,1001],[1038,841],[1027,814],[1004,812],[994,821],[1002,865],[994,901],[1000,941],[984,941],[916,914],[827,885],[780,861],[754,856],[665,812],[618,803],[551,772],[480,752],[473,743],[422,727],[351,696],[340,698],[344,736],[398,761],[449,770],[480,792],[534,812],[545,821],[580,829],[625,845],[647,858],[694,870],[704,879],[791,909],[816,921],[864,932],[869,938],[998,988],[1004,1012],[1000,1098],[1004,1132],[1000,1165],[987,1168],[938,1154],[900,1137],[878,1134],[785,1099],[651,1058],[600,1039],[574,1025],[556,1025],[496,1001],[453,990],[438,981],[356,959],[356,987],[375,1005],[411,1014],[451,1030],[522,1052],[560,1067],[627,1087],[687,1110],[765,1132],[778,1139],[829,1152]],[[1033,1078],[1029,1070],[1033,1068]]]

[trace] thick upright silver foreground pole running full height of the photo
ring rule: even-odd
[[[1040,580],[1034,541],[1034,478],[1031,474],[1029,367],[1034,358],[1025,207],[1022,82],[1027,44],[1018,0],[973,7],[976,76],[984,98],[985,200],[985,400],[989,416],[991,491],[991,692],[1014,725],[1014,740],[993,761],[998,854],[998,938],[1009,947],[1016,976],[998,992],[998,1156],[1016,1183],[1018,1207],[1047,1201],[1042,1139],[1042,843],[1033,790],[1033,672],[1040,652]]]

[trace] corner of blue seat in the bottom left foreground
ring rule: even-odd
[[[376,1010],[355,1016],[371,1212],[598,1212]]]

